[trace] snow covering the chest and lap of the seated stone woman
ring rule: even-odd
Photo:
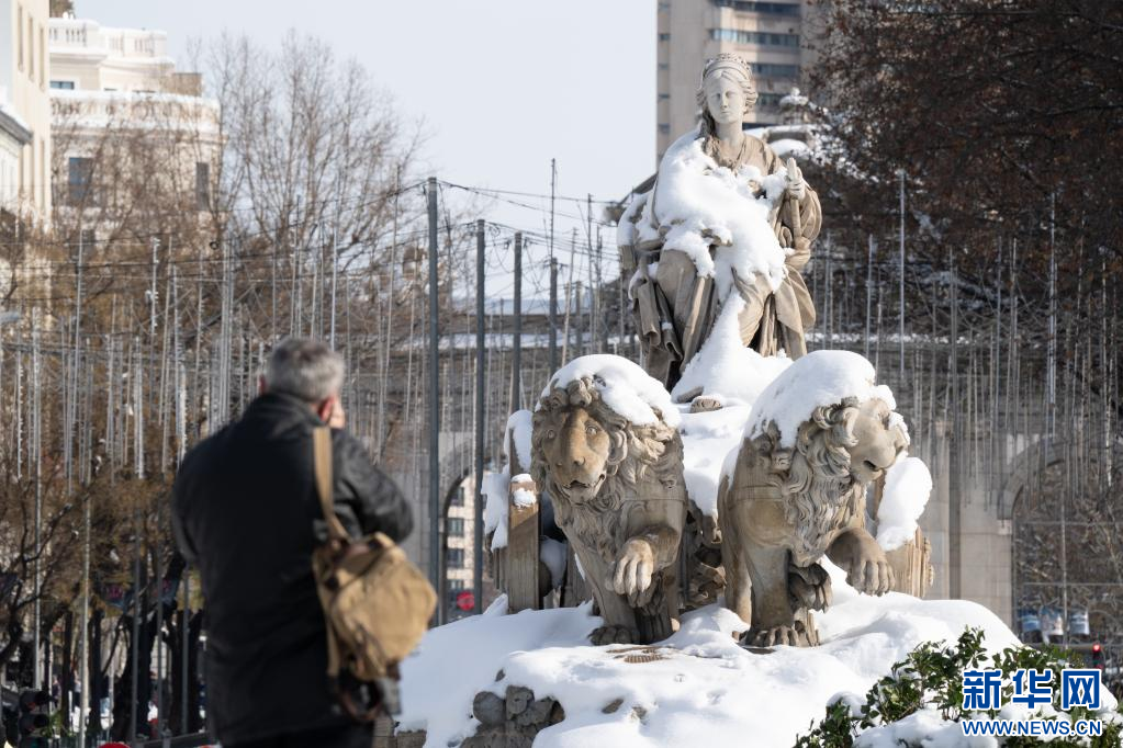
[[[688,132],[664,155],[639,225],[665,230],[666,249],[688,255],[700,276],[714,276],[718,298],[729,296],[733,271],[746,280],[761,274],[778,288],[786,274],[785,253],[769,214],[784,194],[786,176],[783,168],[765,176],[754,166],[736,173],[718,166],[702,150],[697,131]],[[759,198],[754,195],[757,185],[763,187]],[[720,246],[711,255],[714,243]]]

